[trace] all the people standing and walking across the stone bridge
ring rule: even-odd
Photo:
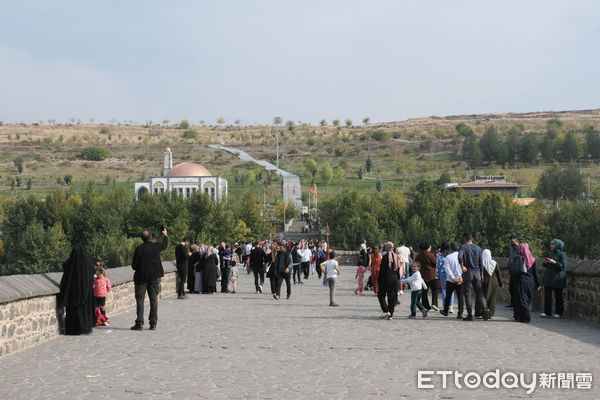
[[[154,330],[158,321],[160,281],[164,276],[161,252],[168,246],[166,229],[162,239],[153,242],[150,233],[141,234],[142,244],[133,255],[134,286],[137,318],[132,330],[142,330],[144,325],[144,300],[150,303],[149,324]],[[361,244],[355,279],[355,295],[373,290],[382,311],[380,318],[391,320],[396,305],[405,291],[410,291],[410,314],[416,318],[417,309],[423,318],[431,311],[448,317],[456,312],[458,319],[472,321],[476,318],[494,318],[498,288],[504,286],[498,264],[490,250],[473,243],[465,233],[463,243],[446,241],[435,249],[428,242],[412,247],[400,242]],[[516,236],[509,239],[509,290],[513,318],[530,322],[529,306],[534,290],[544,286],[544,312],[542,317],[560,318],[564,312],[562,291],[566,286],[567,256],[564,243],[559,239],[550,242],[550,251],[543,258],[543,282],[537,270],[537,261],[526,243]],[[275,300],[281,298],[283,282],[286,298],[294,285],[302,285],[311,275],[322,279],[329,288],[329,306],[337,307],[336,282],[341,269],[335,251],[325,241],[249,241],[230,246],[221,242],[215,245],[192,244],[184,237],[175,247],[177,267],[177,298],[190,294],[236,293],[240,271],[252,273],[257,294],[264,291],[265,278],[269,280],[270,293]],[[369,273],[365,282],[365,275]],[[186,289],[187,288],[187,289]],[[66,308],[65,333],[85,334],[94,325],[108,325],[105,301],[110,291],[102,263],[94,266],[82,246],[74,247],[64,264],[59,299]],[[438,302],[441,292],[441,304]],[[430,295],[431,293],[431,295]],[[552,313],[552,294],[556,305]],[[431,298],[431,301],[430,301]],[[455,308],[456,307],[456,308]]]

